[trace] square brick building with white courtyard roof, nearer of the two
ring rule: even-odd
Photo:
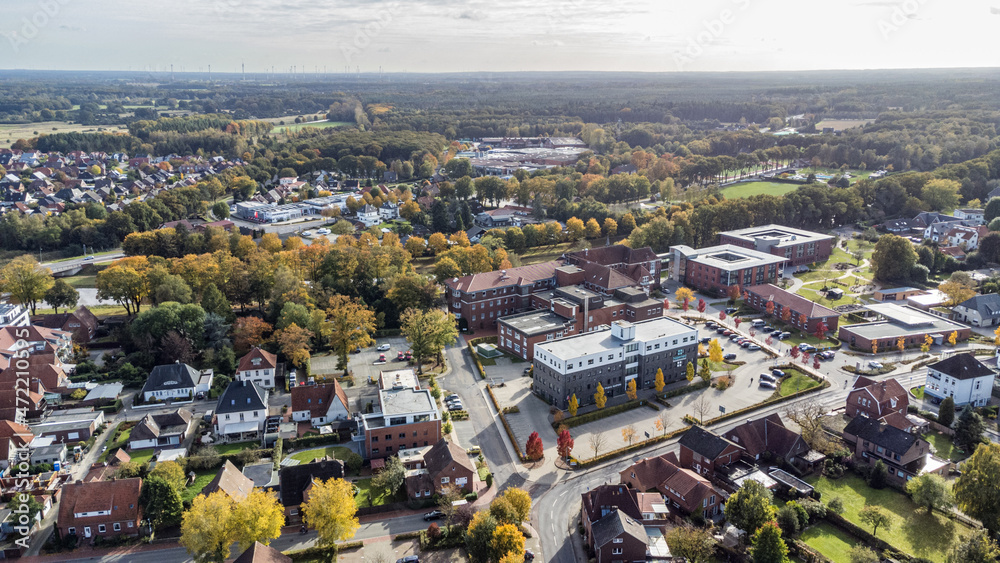
[[[785,258],[726,244],[695,250],[690,246],[670,248],[670,279],[715,295],[726,295],[732,286],[748,287],[775,283]]]

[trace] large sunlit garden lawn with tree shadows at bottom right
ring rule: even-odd
[[[820,477],[807,481],[822,493],[824,502],[839,498],[844,503],[844,517],[862,528],[870,526],[858,518],[861,509],[868,504],[882,508],[890,515],[891,525],[889,529],[880,528],[878,537],[910,555],[944,561],[948,551],[972,532],[968,526],[945,516],[927,514],[900,491],[890,487],[872,489],[854,474],[835,480]]]

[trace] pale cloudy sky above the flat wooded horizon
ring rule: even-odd
[[[0,0],[0,67],[288,72],[1000,66],[1000,0]]]

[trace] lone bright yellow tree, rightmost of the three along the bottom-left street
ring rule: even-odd
[[[309,490],[309,500],[302,505],[303,522],[319,533],[321,546],[336,545],[354,537],[361,525],[351,484],[343,479],[315,481]]]

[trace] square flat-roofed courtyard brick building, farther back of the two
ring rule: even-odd
[[[719,244],[731,244],[780,256],[791,266],[825,262],[834,237],[782,225],[762,225],[719,233]]]

